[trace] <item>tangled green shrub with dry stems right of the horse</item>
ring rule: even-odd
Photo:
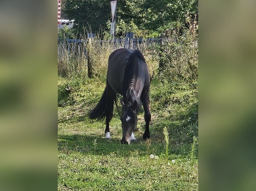
[[[186,37],[166,39],[164,45],[156,45],[153,49],[159,56],[159,79],[166,83],[181,83],[197,88],[198,76],[198,40],[190,38],[189,30]],[[152,49],[149,47],[149,49]]]

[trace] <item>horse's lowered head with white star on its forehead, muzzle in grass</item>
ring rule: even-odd
[[[131,134],[137,127],[137,102],[130,105],[124,103],[124,101],[121,99],[121,104],[123,106],[123,112],[120,116],[123,132],[121,143],[130,144]]]

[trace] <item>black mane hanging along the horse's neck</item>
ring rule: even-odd
[[[139,50],[133,51],[127,58],[124,68],[123,79],[123,99],[124,102],[133,105],[137,102],[136,112],[141,108],[141,101],[139,95],[135,92],[136,77],[138,72],[138,59],[145,61],[143,55]]]

